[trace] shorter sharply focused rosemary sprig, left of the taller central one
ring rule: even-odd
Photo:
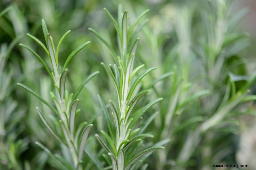
[[[61,170],[82,170],[83,169],[83,153],[84,147],[86,143],[86,139],[91,129],[92,125],[86,125],[86,122],[81,123],[77,128],[75,125],[76,115],[79,112],[77,110],[77,104],[79,100],[77,96],[79,95],[80,91],[83,89],[84,85],[92,79],[96,74],[99,72],[94,72],[93,74],[89,75],[87,79],[83,81],[83,83],[79,86],[77,91],[73,94],[68,94],[65,91],[65,84],[66,84],[66,76],[67,76],[67,67],[68,64],[71,62],[71,59],[81,51],[86,45],[90,42],[86,42],[83,45],[80,45],[75,51],[73,51],[66,59],[62,71],[60,71],[60,65],[58,62],[59,59],[59,51],[60,45],[65,39],[65,37],[71,32],[70,30],[67,31],[62,38],[60,39],[57,48],[54,47],[54,40],[52,36],[48,33],[48,28],[44,20],[42,20],[42,30],[44,34],[44,38],[46,41],[47,47],[36,37],[31,34],[27,34],[31,39],[35,40],[42,49],[46,52],[47,56],[51,62],[52,72],[48,68],[47,64],[43,61],[42,57],[40,57],[34,50],[32,50],[29,46],[20,44],[21,46],[28,49],[43,65],[46,69],[49,77],[51,78],[54,86],[55,92],[50,92],[53,103],[55,107],[52,107],[50,103],[44,100],[41,96],[39,96],[35,91],[31,90],[29,87],[18,83],[21,87],[25,90],[32,93],[38,99],[40,99],[44,104],[46,104],[54,113],[54,117],[49,120],[49,116],[42,113],[39,108],[36,108],[42,122],[48,128],[48,130],[52,133],[53,136],[56,137],[62,144],[64,144],[70,152],[71,155],[71,164],[69,164],[67,160],[63,159],[60,155],[53,155],[50,151],[44,147],[40,142],[36,142],[37,145],[42,147],[49,156],[54,160],[56,166]],[[59,121],[58,121],[59,119]],[[53,125],[54,124],[54,125]]]

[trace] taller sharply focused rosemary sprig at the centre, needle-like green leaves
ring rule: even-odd
[[[144,11],[131,27],[128,26],[128,12],[123,12],[121,6],[119,6],[118,11],[118,22],[107,9],[104,8],[104,10],[114,24],[117,33],[119,53],[117,54],[107,40],[104,40],[94,29],[89,28],[89,30],[107,45],[112,53],[115,61],[113,66],[109,65],[109,67],[107,67],[103,62],[101,62],[101,65],[106,69],[113,81],[118,102],[115,104],[110,101],[109,107],[107,108],[101,96],[99,96],[99,102],[107,124],[107,128],[101,130],[101,134],[105,137],[106,141],[102,140],[98,134],[96,134],[95,137],[111,158],[113,170],[135,170],[138,169],[141,164],[139,160],[141,157],[156,149],[163,148],[149,147],[137,153],[138,150],[140,150],[139,148],[143,147],[142,139],[153,137],[150,134],[143,134],[145,128],[137,128],[139,120],[149,108],[162,100],[162,98],[158,98],[142,109],[135,109],[138,101],[148,93],[148,91],[139,92],[139,82],[144,76],[156,69],[149,68],[134,79],[135,74],[144,67],[143,64],[134,69],[135,54],[139,43],[139,39],[135,38],[136,31],[134,30],[141,18],[148,13],[149,10]],[[111,121],[112,119],[113,121]]]

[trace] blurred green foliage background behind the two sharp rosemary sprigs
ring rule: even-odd
[[[145,115],[158,112],[147,129],[155,137],[145,140],[145,145],[168,142],[163,142],[165,150],[145,160],[147,169],[218,170],[214,164],[247,164],[249,168],[244,170],[256,170],[254,0],[1,0],[0,169],[58,169],[36,141],[52,153],[66,154],[43,125],[36,107],[49,117],[51,111],[16,85],[28,85],[51,101],[48,91],[54,87],[47,73],[36,57],[18,45],[28,45],[47,58],[26,36],[30,33],[44,40],[42,18],[55,44],[71,30],[62,43],[60,63],[64,64],[77,46],[91,41],[71,61],[67,89],[73,92],[86,76],[100,71],[79,96],[81,114],[76,121],[94,124],[86,148],[108,166],[94,137],[102,129],[96,96],[115,100],[112,82],[100,64],[114,61],[88,28],[117,46],[114,27],[103,7],[116,17],[119,4],[128,11],[130,23],[150,9],[147,23],[138,34],[141,41],[136,65],[158,69],[143,80],[141,88],[151,91],[141,105],[156,96],[164,100]],[[85,159],[87,170],[98,169],[94,160],[88,156]]]

